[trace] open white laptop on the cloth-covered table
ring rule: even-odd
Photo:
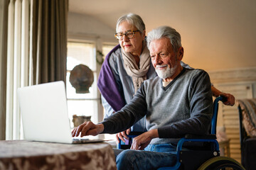
[[[73,138],[63,81],[18,88],[25,140],[58,143],[103,142]]]

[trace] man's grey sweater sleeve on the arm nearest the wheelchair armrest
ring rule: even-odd
[[[189,85],[190,118],[158,128],[160,138],[178,138],[186,134],[208,134],[213,112],[210,78],[203,70],[196,74]]]

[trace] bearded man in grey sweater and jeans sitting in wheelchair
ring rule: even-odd
[[[135,137],[131,149],[117,155],[117,169],[156,169],[176,162],[174,146],[190,133],[204,135],[210,128],[213,108],[208,74],[181,66],[181,35],[162,26],[147,36],[151,62],[158,77],[143,82],[132,101],[121,111],[95,125],[85,122],[73,136],[117,133],[146,115],[146,129]]]

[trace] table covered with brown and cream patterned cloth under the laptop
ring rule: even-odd
[[[105,143],[60,144],[26,140],[0,141],[0,169],[117,169]]]

